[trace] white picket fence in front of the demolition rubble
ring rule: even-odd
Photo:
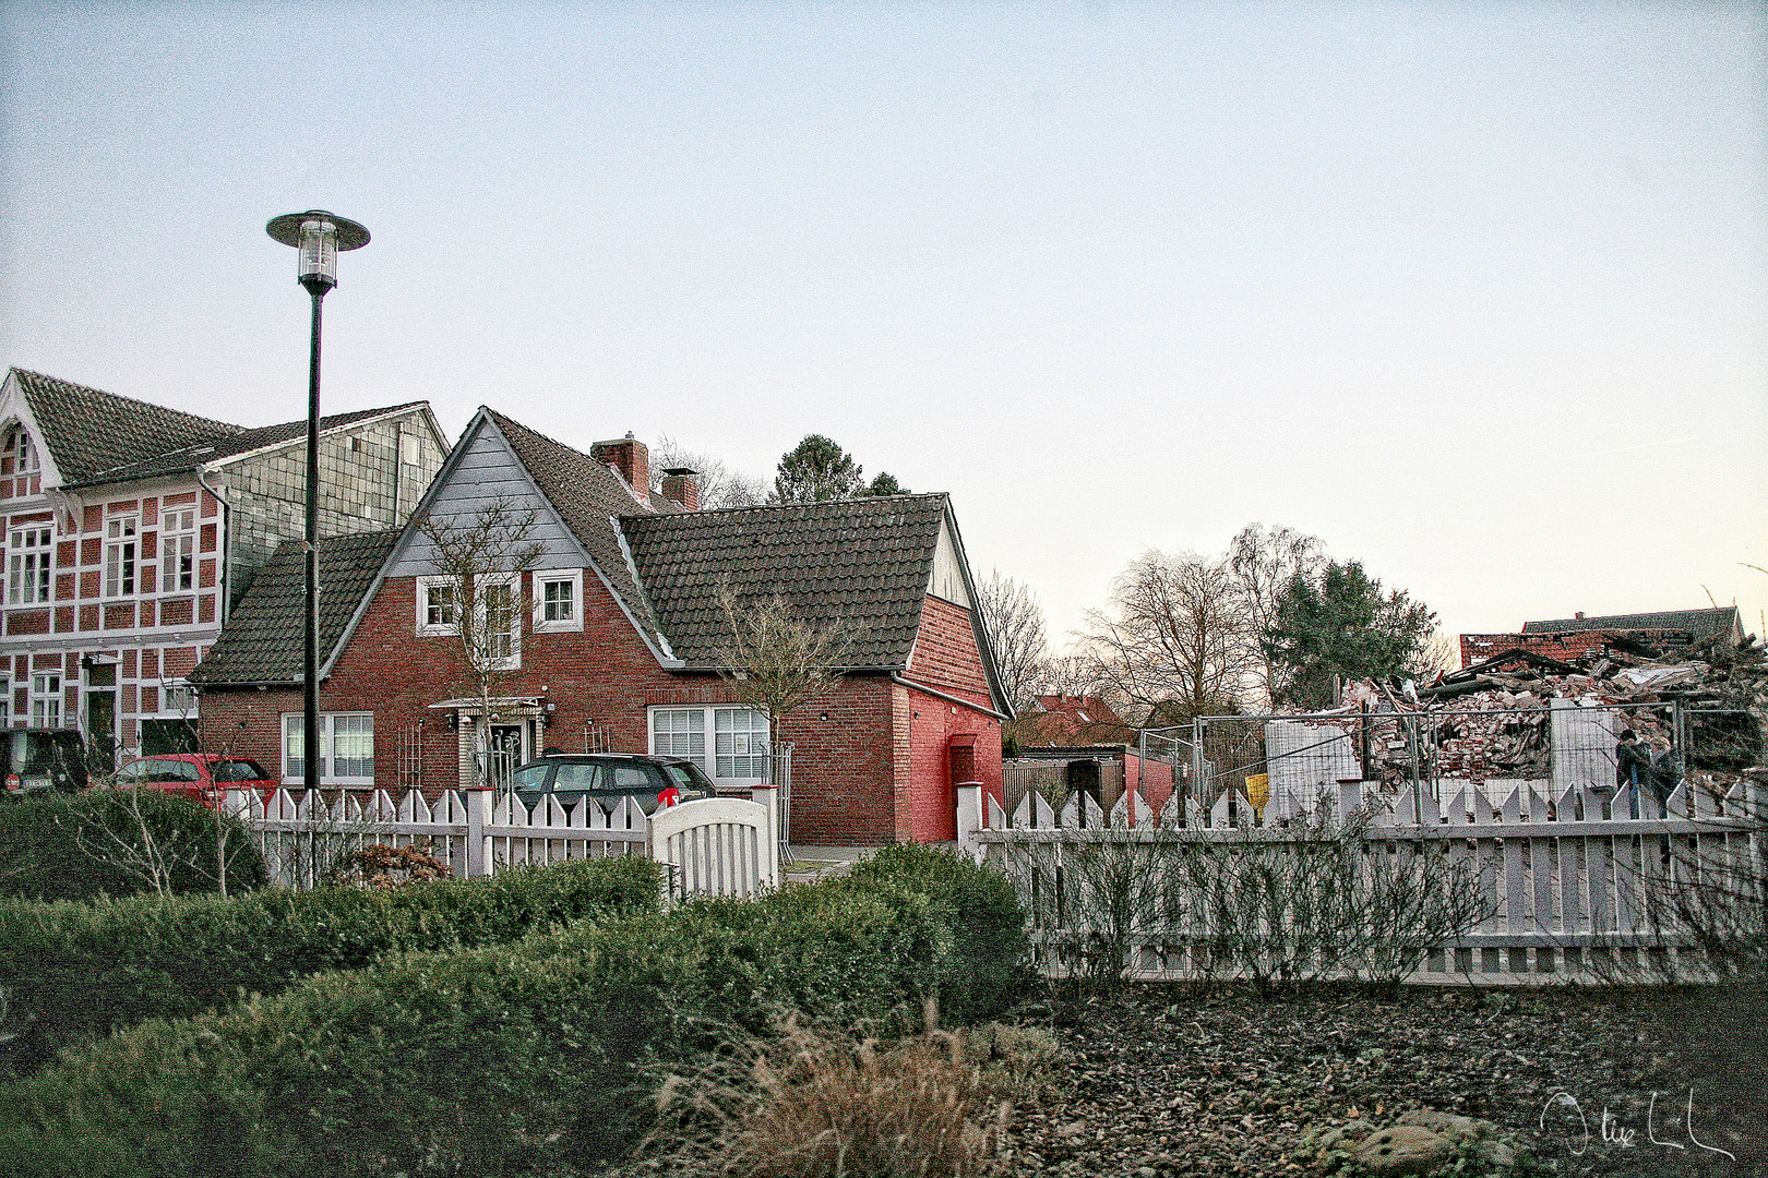
[[[1497,782],[1490,782],[1497,784]],[[1547,797],[1547,782],[1503,782],[1496,797],[1464,786],[1441,804],[1429,791],[1383,795],[1374,782],[1324,789],[1314,807],[1255,812],[1239,793],[1213,811],[1176,798],[1149,805],[1126,791],[1110,814],[1077,795],[1061,812],[1027,795],[1010,814],[979,789],[958,798],[958,839],[979,862],[1008,874],[1027,851],[1080,842],[1282,841],[1307,837],[1363,814],[1365,850],[1388,864],[1437,851],[1475,871],[1494,913],[1466,936],[1434,948],[1414,982],[1543,984],[1619,977],[1704,977],[1706,966],[1653,913],[1673,888],[1724,888],[1752,897],[1756,918],[1768,908],[1768,782],[1759,775],[1724,795],[1690,793],[1687,782],[1658,816],[1651,797],[1627,789],[1574,786]],[[1383,858],[1386,857],[1386,858]],[[1050,853],[1043,855],[1052,860]],[[1717,894],[1717,892],[1715,892]],[[1183,906],[1181,906],[1183,908]],[[1061,973],[1064,929],[1034,929],[1043,966]],[[1197,931],[1160,924],[1139,929],[1132,971],[1151,978],[1195,977],[1186,947]]]

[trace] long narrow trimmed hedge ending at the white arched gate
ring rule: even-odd
[[[18,1035],[0,1067],[30,1072],[113,1028],[198,1014],[240,991],[272,994],[394,950],[492,945],[656,902],[656,865],[636,857],[389,890],[0,899],[0,987]]]

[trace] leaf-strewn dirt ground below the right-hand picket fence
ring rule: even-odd
[[[1434,1107],[1515,1132],[1517,1173],[1768,1176],[1763,991],[1126,984],[1025,1016],[1070,1065],[1064,1097],[1015,1118],[1010,1174],[1322,1173],[1292,1155],[1308,1127]]]

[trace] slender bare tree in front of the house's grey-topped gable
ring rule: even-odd
[[[536,539],[534,507],[497,498],[472,516],[424,516],[419,533],[430,540],[435,570],[424,592],[431,627],[453,634],[461,682],[479,698],[476,763],[481,781],[490,775],[492,699],[520,664],[522,623],[534,602],[523,581],[545,553]]]

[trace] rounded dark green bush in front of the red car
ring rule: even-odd
[[[85,789],[0,802],[0,895],[83,901],[154,892],[140,871],[149,857],[163,864],[166,890],[217,892],[217,839],[228,848],[226,890],[262,888],[263,857],[246,828],[191,798]]]

